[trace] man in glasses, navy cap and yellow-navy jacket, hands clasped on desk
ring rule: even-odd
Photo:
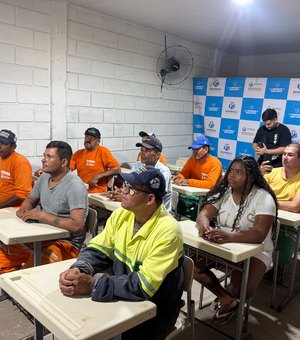
[[[123,333],[122,339],[164,339],[180,310],[181,229],[162,205],[165,180],[158,169],[142,167],[118,176],[122,208],[60,274],[60,289],[66,296],[89,294],[93,301],[150,300],[157,305],[157,316]]]

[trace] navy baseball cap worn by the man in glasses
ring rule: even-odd
[[[166,194],[164,175],[152,166],[142,166],[130,174],[118,173],[118,176],[130,185],[144,185],[149,192],[160,199]]]

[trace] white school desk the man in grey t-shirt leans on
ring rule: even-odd
[[[16,208],[0,209],[0,241],[7,246],[33,242],[35,266],[41,261],[41,241],[70,236],[69,231],[49,224],[24,222],[16,216],[16,211]]]

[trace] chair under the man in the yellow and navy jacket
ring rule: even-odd
[[[174,339],[178,334],[183,332],[184,330],[190,328],[191,329],[191,340],[195,339],[195,301],[192,300],[192,284],[194,277],[194,261],[188,257],[184,257],[183,262],[183,270],[184,270],[184,283],[183,283],[183,291],[186,292],[186,305],[187,305],[187,313],[180,312],[176,324],[175,329],[168,334],[165,340]]]

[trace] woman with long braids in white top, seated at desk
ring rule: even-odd
[[[253,296],[272,266],[276,225],[276,196],[255,159],[244,155],[231,162],[222,181],[206,194],[196,220],[199,235],[211,242],[263,243],[262,253],[250,260],[247,297]],[[238,309],[242,273],[233,271],[224,289],[209,270],[212,266],[202,258],[196,260],[194,278],[217,296],[211,306],[213,320],[222,325]]]

